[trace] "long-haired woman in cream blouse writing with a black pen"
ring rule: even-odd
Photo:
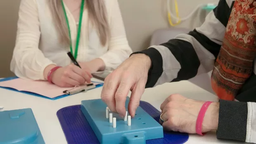
[[[90,83],[91,73],[115,69],[131,52],[117,0],[21,0],[11,61],[20,78]]]

